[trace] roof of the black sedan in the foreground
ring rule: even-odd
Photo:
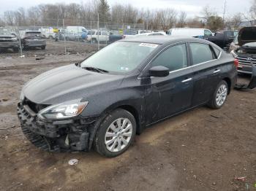
[[[143,42],[143,43],[152,43],[152,44],[167,44],[167,43],[176,43],[182,41],[197,41],[197,42],[207,42],[203,39],[197,39],[187,36],[136,36],[131,39],[121,39],[123,42]]]

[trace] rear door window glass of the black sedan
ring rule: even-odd
[[[214,53],[211,51],[210,45],[201,43],[190,43],[193,65],[204,63],[215,59]]]

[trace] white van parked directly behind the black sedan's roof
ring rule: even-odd
[[[170,28],[167,34],[171,36],[189,36],[199,39],[206,39],[213,36],[213,33],[207,28]]]

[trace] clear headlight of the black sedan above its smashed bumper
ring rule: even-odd
[[[88,101],[67,101],[62,104],[48,106],[47,108],[42,109],[39,112],[38,117],[48,120],[61,120],[68,117],[75,117],[83,112],[83,109],[85,109],[88,104]]]

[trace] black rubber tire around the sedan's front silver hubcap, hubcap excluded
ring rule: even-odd
[[[105,133],[107,133],[108,127],[111,125],[111,123],[117,120],[118,118],[127,118],[132,123],[132,136],[126,147],[124,147],[118,152],[110,152],[110,150],[108,150],[105,145]],[[130,144],[132,144],[132,142],[135,139],[135,134],[136,134],[135,117],[127,110],[116,109],[115,111],[108,114],[108,116],[105,117],[105,119],[99,125],[96,136],[94,138],[94,149],[100,155],[103,155],[105,157],[116,157],[118,155],[121,155],[123,152],[125,152],[129,148]]]

